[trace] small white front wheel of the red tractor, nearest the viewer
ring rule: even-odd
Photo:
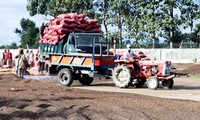
[[[152,90],[156,90],[159,87],[158,79],[154,76],[151,76],[147,79],[147,87]]]

